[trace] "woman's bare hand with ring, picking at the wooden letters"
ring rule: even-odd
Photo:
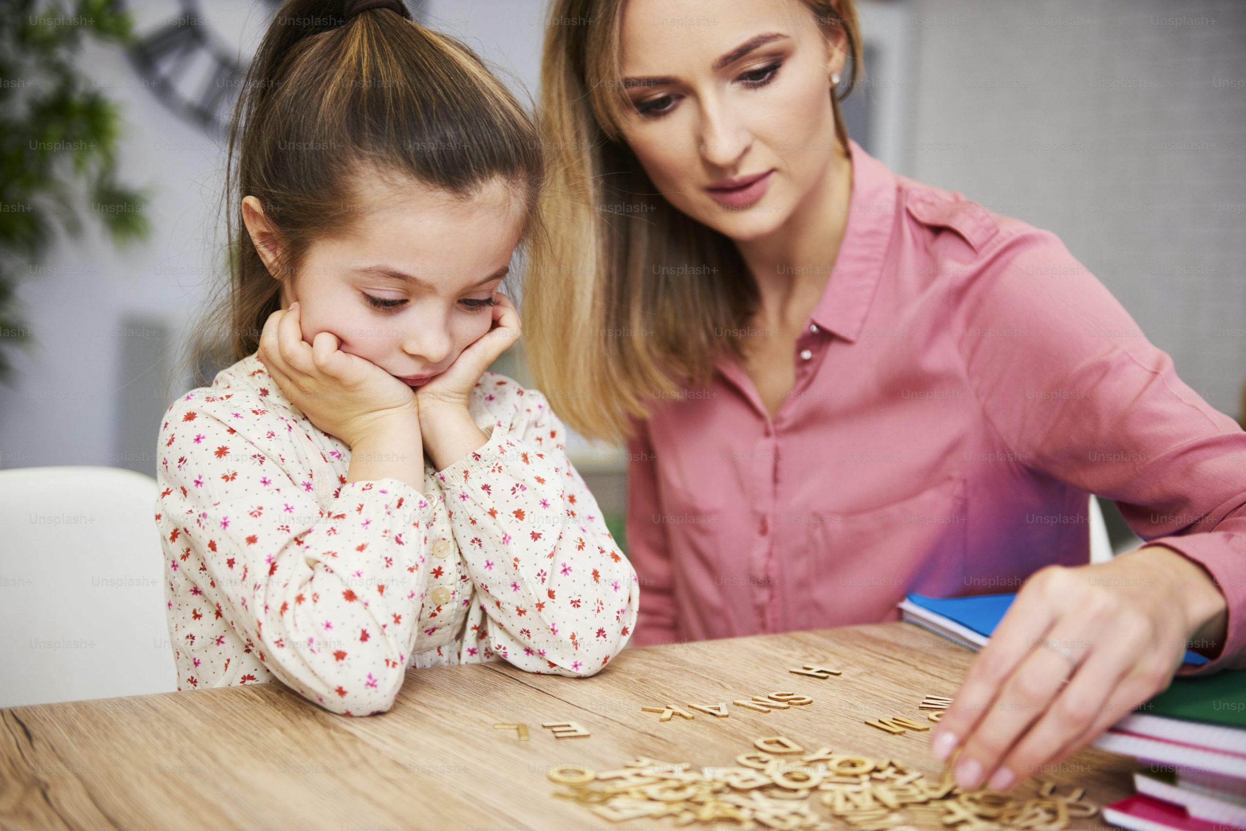
[[[1222,643],[1226,604],[1197,563],[1149,546],[1030,577],[932,733],[956,781],[1007,790],[1163,691],[1186,643]]]

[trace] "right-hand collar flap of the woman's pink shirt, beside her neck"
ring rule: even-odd
[[[895,232],[897,181],[886,164],[849,138],[852,194],[847,227],[826,290],[810,320],[847,341],[856,341],[870,310],[882,263]]]

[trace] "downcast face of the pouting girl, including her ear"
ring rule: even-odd
[[[360,177],[356,193],[353,228],[309,247],[282,287],[282,308],[299,302],[307,343],[330,331],[343,351],[417,386],[488,331],[523,232],[523,199],[501,179],[457,198],[373,176]],[[247,197],[243,218],[274,272],[258,207]]]

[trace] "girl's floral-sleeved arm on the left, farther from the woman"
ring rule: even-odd
[[[192,620],[224,617],[304,698],[346,715],[385,711],[417,634],[432,508],[386,477],[345,482],[321,510],[298,449],[252,441],[298,441],[297,430],[265,419],[260,401],[231,397],[192,392],[161,429],[166,568],[202,592]],[[193,625],[178,637],[193,639]]]

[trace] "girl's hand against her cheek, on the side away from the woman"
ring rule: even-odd
[[[376,364],[338,349],[330,331],[303,340],[298,303],[264,321],[258,356],[290,404],[351,447],[391,419],[419,424],[411,387]]]

